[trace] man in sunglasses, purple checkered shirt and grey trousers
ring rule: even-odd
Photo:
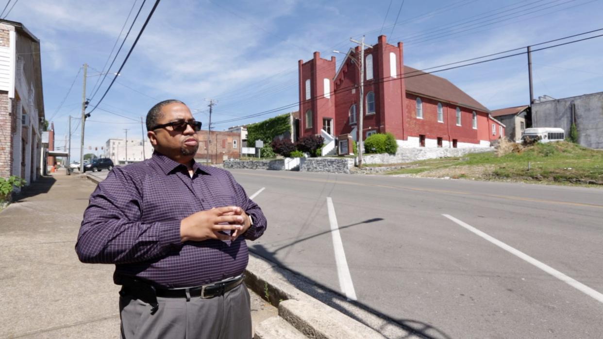
[[[200,129],[183,102],[156,104],[153,157],[115,167],[84,212],[75,249],[115,264],[122,338],[251,338],[245,239],[267,222],[229,172],[195,163]]]

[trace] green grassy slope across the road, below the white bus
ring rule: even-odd
[[[528,169],[529,164],[529,169]],[[462,158],[443,158],[407,163],[405,169],[388,174],[438,172],[440,176],[476,179],[515,179],[573,184],[603,185],[603,151],[568,143],[538,143],[520,153],[498,157],[493,152],[468,154]],[[482,169],[472,175],[471,169]],[[467,169],[467,173],[458,173]],[[450,175],[442,175],[449,170]],[[426,173],[429,174],[429,173]]]

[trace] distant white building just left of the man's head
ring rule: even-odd
[[[111,138],[107,140],[105,147],[104,157],[110,158],[115,165],[137,163],[153,155],[153,146],[148,139],[143,141],[128,138],[126,147],[125,138]]]

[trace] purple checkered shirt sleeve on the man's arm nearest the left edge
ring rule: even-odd
[[[83,263],[138,263],[182,246],[180,220],[141,221],[142,196],[134,182],[115,167],[90,196],[75,244]]]

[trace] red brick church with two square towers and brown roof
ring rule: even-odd
[[[314,52],[298,61],[300,136],[358,135],[359,70],[350,49],[336,69],[335,57]],[[402,147],[487,147],[505,126],[490,110],[447,79],[403,64],[403,44],[379,36],[365,49],[363,138],[391,132]],[[491,128],[492,125],[495,128]],[[324,135],[324,132],[323,135]]]

